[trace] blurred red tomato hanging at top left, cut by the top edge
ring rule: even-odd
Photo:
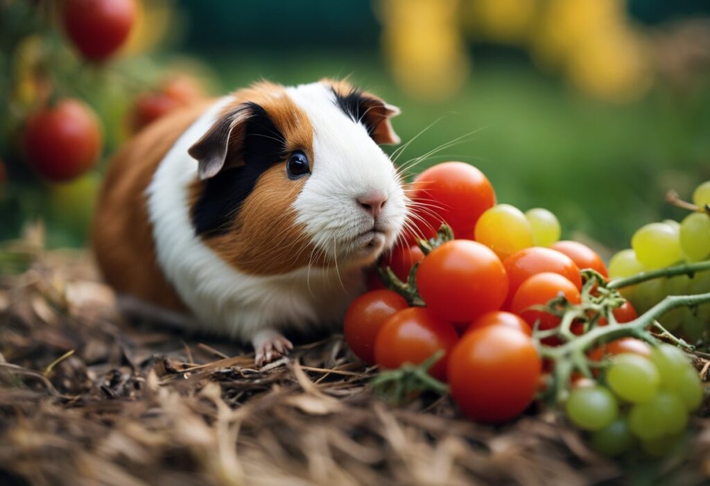
[[[135,0],[66,0],[67,35],[87,59],[101,60],[121,47],[136,18]]]

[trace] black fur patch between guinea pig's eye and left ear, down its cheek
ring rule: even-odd
[[[256,103],[247,103],[240,109],[248,109],[251,116],[246,121],[241,148],[229,150],[240,150],[244,165],[223,170],[204,181],[202,196],[192,209],[192,224],[198,236],[229,232],[239,206],[251,194],[258,178],[285,156],[286,140],[266,111]]]

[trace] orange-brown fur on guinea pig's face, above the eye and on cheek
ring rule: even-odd
[[[313,161],[313,128],[307,115],[277,84],[261,82],[234,94],[223,116],[239,104],[252,101],[260,105],[286,140],[286,150],[303,150]],[[241,143],[241,140],[230,140]],[[283,163],[273,165],[259,177],[229,231],[220,236],[203,236],[202,241],[222,260],[251,275],[276,275],[307,265],[324,265],[315,255],[310,238],[295,223],[293,203],[306,179],[290,180]],[[205,182],[190,186],[190,206],[200,200]]]

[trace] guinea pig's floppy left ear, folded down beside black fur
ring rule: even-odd
[[[239,150],[244,143],[246,121],[252,110],[242,104],[214,122],[200,140],[187,150],[197,160],[200,180],[209,179],[230,167],[244,165]]]

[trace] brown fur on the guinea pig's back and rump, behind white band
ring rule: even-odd
[[[186,311],[155,260],[145,192],[165,153],[209,104],[165,115],[126,143],[109,164],[94,217],[92,243],[104,278],[119,294]]]

